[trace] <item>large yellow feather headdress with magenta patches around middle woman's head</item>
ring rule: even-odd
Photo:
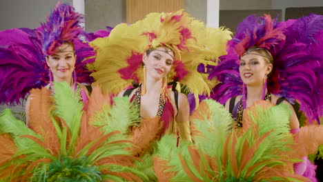
[[[230,31],[206,28],[204,23],[189,17],[184,10],[150,13],[130,26],[118,25],[109,37],[90,43],[97,52],[95,62],[90,65],[96,72],[91,76],[104,92],[117,94],[133,81],[142,81],[141,63],[146,50],[166,45],[175,53],[175,64],[168,73],[168,81],[179,79],[179,83],[186,85],[196,96],[210,94],[216,83],[206,81],[206,76],[197,72],[197,66],[200,63],[216,65],[216,59],[226,54],[229,39]],[[188,73],[184,74],[186,71]]]

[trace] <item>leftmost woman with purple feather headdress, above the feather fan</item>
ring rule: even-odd
[[[50,81],[66,81],[75,90],[81,88],[81,100],[87,100],[84,84],[89,85],[93,79],[86,64],[94,61],[95,53],[80,39],[85,34],[80,26],[83,19],[72,6],[57,3],[39,28],[0,32],[1,104],[19,104],[35,88],[50,90]],[[30,104],[37,103],[30,103],[28,98],[27,120]]]

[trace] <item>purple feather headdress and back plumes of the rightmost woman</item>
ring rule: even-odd
[[[318,121],[322,116],[322,86],[318,85],[322,82],[322,28],[323,16],[315,14],[284,22],[268,15],[247,17],[228,42],[228,54],[220,57],[221,61],[209,74],[209,79],[221,82],[213,88],[211,97],[225,103],[242,94],[239,57],[257,45],[271,52],[274,59],[273,75],[267,84],[269,92],[291,103],[299,102],[306,117]]]

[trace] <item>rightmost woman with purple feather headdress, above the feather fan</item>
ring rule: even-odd
[[[323,16],[277,22],[269,15],[251,15],[239,23],[228,41],[227,55],[216,66],[208,65],[208,79],[217,79],[211,98],[233,115],[234,128],[242,127],[244,110],[260,100],[291,108],[291,133],[300,130],[293,109],[300,105],[310,123],[322,117],[322,28]],[[304,157],[295,164],[295,174],[315,181],[315,167]],[[307,163],[307,168],[306,168]],[[311,174],[313,175],[313,174]]]

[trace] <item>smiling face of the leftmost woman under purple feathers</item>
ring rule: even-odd
[[[46,63],[54,76],[54,81],[69,81],[67,79],[72,78],[75,61],[74,48],[70,43],[62,43],[55,54],[46,57]]]

